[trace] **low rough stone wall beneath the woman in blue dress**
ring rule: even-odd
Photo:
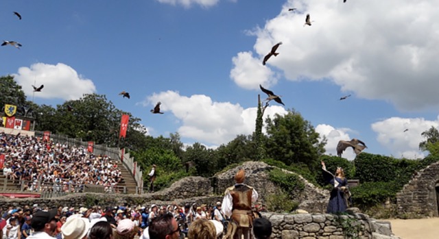
[[[271,238],[344,239],[355,238],[355,236],[362,239],[398,238],[392,234],[389,222],[377,221],[366,214],[338,216],[263,213],[262,216],[272,223]]]

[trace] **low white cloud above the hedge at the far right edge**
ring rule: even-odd
[[[425,138],[420,134],[431,126],[438,127],[439,118],[427,121],[425,118],[392,117],[373,123],[372,130],[377,132],[378,142],[390,149],[394,157],[423,158],[424,153],[419,151],[419,143]]]

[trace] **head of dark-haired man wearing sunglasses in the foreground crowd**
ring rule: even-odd
[[[151,221],[148,235],[154,239],[177,239],[180,237],[180,227],[175,218],[164,214]]]

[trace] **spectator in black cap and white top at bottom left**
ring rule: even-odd
[[[31,221],[31,227],[34,229],[34,234],[28,236],[27,239],[54,239],[56,232],[56,216],[58,210],[56,208],[46,211],[38,211],[34,214]]]

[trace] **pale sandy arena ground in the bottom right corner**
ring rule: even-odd
[[[402,239],[438,239],[439,218],[427,219],[389,219],[392,232]]]

